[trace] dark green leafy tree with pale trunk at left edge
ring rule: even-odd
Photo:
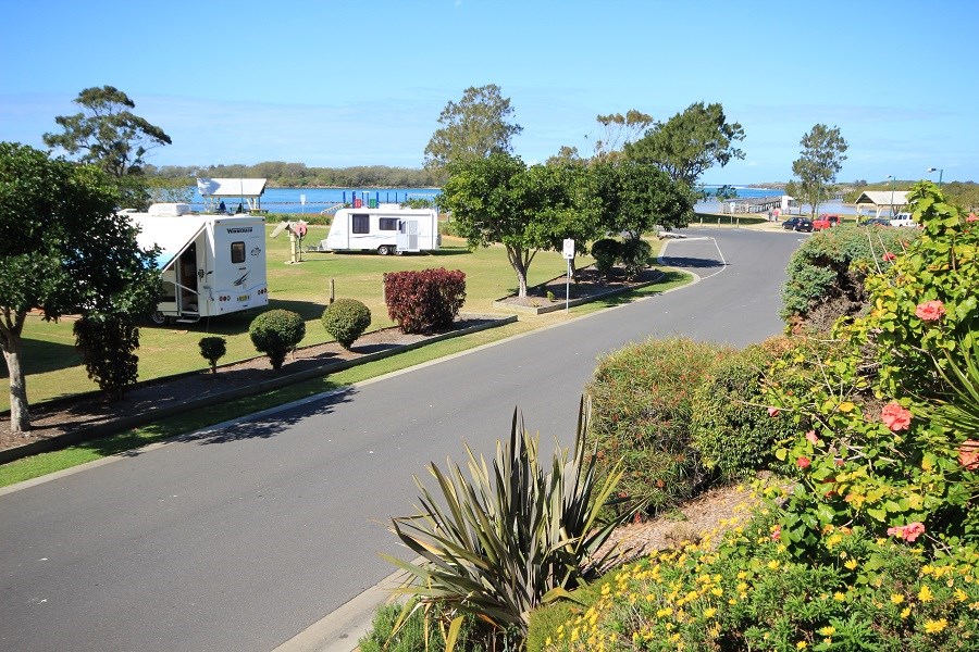
[[[12,142],[0,143],[0,349],[10,375],[11,429],[29,429],[21,334],[30,310],[146,314],[156,302],[154,252],[115,214],[103,173]]]

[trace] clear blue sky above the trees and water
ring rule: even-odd
[[[788,180],[839,126],[840,180],[979,180],[979,2],[172,0],[4,3],[0,140],[42,147],[112,85],[173,145],[156,165],[420,167],[439,112],[496,84],[515,152],[591,152],[598,114],[720,102],[743,161],[707,184]]]

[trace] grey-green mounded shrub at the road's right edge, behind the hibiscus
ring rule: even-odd
[[[782,286],[782,318],[828,331],[838,317],[858,315],[867,305],[864,279],[890,266],[918,237],[915,229],[838,226],[807,238],[789,261]]]

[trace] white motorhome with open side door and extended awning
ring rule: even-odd
[[[139,246],[160,248],[162,299],[153,322],[196,322],[269,304],[265,221],[251,215],[195,215],[188,204],[153,204],[128,213]]]

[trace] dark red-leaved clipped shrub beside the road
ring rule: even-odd
[[[448,328],[466,301],[466,274],[439,267],[384,275],[388,316],[405,333]]]

